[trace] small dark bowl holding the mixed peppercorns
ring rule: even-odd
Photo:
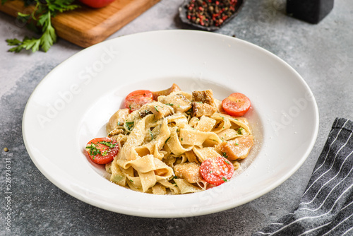
[[[237,6],[235,6],[235,11],[232,14],[232,16],[230,16],[229,18],[227,18],[222,25],[220,26],[203,26],[203,25],[198,25],[196,23],[191,22],[188,18],[186,18],[186,6],[189,4],[190,0],[185,0],[183,4],[181,4],[181,6],[179,6],[179,18],[181,19],[181,21],[183,23],[186,23],[188,25],[192,25],[195,28],[199,28],[201,30],[207,30],[207,31],[215,31],[215,30],[219,30],[223,25],[227,24],[230,20],[232,20],[232,18],[234,18],[235,16],[238,15],[239,11],[241,10],[241,8],[244,6],[246,0],[238,0],[237,2]]]

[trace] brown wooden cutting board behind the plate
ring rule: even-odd
[[[160,0],[115,0],[103,8],[82,5],[74,11],[59,13],[52,18],[52,25],[59,37],[80,47],[89,47],[102,42],[158,1]],[[0,4],[0,11],[17,16],[18,12],[29,13],[30,8],[25,7],[23,1],[15,0]]]

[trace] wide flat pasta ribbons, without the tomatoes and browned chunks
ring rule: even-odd
[[[191,117],[186,109],[189,109],[192,96],[181,91],[177,93],[160,96],[158,102],[144,105],[127,117],[124,115],[124,126],[116,127],[122,132],[115,132],[112,137],[122,146],[121,150],[106,167],[112,174],[112,182],[121,186],[128,184],[135,191],[152,194],[203,191],[208,184],[204,179],[188,182],[186,177],[174,178],[174,167],[181,163],[201,165],[208,158],[224,154],[218,148],[220,143],[251,135],[244,117],[231,117],[219,113],[220,110],[211,117]],[[175,95],[178,97],[172,98]],[[116,114],[116,117],[120,116]],[[239,163],[235,162],[234,167],[239,167]]]

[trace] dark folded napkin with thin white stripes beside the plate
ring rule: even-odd
[[[263,235],[353,235],[353,122],[336,118],[299,206],[254,232]]]

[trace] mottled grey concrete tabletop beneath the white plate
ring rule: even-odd
[[[189,28],[177,17],[182,0],[162,0],[109,38],[149,30]],[[140,218],[90,206],[49,182],[22,138],[25,104],[55,66],[82,48],[59,40],[47,53],[6,52],[6,38],[30,34],[0,13],[0,235],[251,235],[299,203],[335,117],[353,119],[353,1],[335,2],[321,23],[285,15],[285,0],[248,0],[217,33],[277,54],[309,84],[320,114],[316,144],[292,177],[243,206],[191,218]],[[8,152],[3,148],[7,147]],[[6,231],[6,158],[11,159],[11,232]]]

